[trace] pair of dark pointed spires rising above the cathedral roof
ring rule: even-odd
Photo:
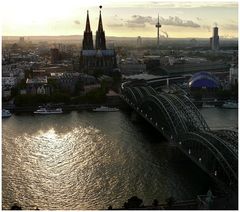
[[[99,50],[99,49],[105,50],[106,49],[106,39],[105,39],[105,32],[103,30],[101,10],[100,10],[100,14],[99,14],[98,30],[96,31],[95,46],[96,46],[97,50]],[[83,50],[94,49],[88,11],[87,11],[87,20],[86,20],[86,27],[85,27],[85,31],[84,31],[82,49]]]

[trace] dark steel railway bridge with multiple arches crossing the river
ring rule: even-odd
[[[122,99],[215,181],[236,187],[236,132],[210,130],[200,111],[186,95],[158,92],[147,83],[124,83]]]

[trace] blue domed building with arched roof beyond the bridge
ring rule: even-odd
[[[217,89],[220,87],[219,80],[208,72],[198,72],[189,80],[189,88],[191,89]]]

